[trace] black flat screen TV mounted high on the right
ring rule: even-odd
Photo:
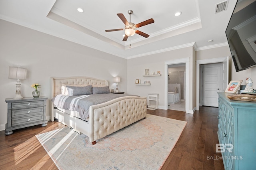
[[[238,0],[226,36],[236,72],[256,66],[256,0]]]

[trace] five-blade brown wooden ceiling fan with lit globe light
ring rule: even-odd
[[[122,20],[122,22],[124,23],[124,28],[120,28],[120,29],[114,29],[114,30],[105,30],[106,32],[112,32],[112,31],[122,31],[124,30],[124,39],[123,41],[126,41],[128,37],[130,36],[134,36],[134,34],[139,34],[140,36],[143,36],[145,38],[148,38],[149,35],[144,33],[144,32],[141,32],[139,30],[136,30],[136,28],[139,28],[139,27],[142,27],[142,26],[146,26],[148,24],[152,24],[154,23],[154,20],[151,18],[149,20],[146,20],[146,21],[143,21],[143,22],[140,22],[139,24],[134,24],[131,22],[131,14],[133,13],[132,10],[128,10],[128,14],[130,15],[130,22],[128,22],[126,20],[126,18],[124,17],[124,14],[117,14],[117,16]]]

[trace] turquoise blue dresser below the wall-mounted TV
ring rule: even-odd
[[[256,170],[256,102],[230,100],[230,93],[218,95],[217,149],[225,169]]]

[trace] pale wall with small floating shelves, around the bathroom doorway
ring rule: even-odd
[[[143,57],[137,57],[133,59],[128,59],[128,71],[127,71],[127,82],[128,82],[128,93],[137,94],[140,96],[148,97],[148,93],[158,93],[159,103],[158,107],[160,109],[165,109],[165,91],[164,82],[167,79],[165,68],[165,61],[182,59],[182,58],[192,58],[192,48],[186,47],[183,49],[176,49],[172,51],[166,51],[163,53],[152,54]],[[160,71],[162,76],[159,77],[143,77],[145,74],[145,69],[149,69],[150,73]],[[135,85],[135,80],[140,79],[141,82],[150,81],[149,86],[138,86]],[[192,79],[192,78],[191,78]],[[191,106],[192,107],[192,106]]]

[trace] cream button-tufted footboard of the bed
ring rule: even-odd
[[[126,96],[90,107],[90,142],[146,117],[146,97]]]

